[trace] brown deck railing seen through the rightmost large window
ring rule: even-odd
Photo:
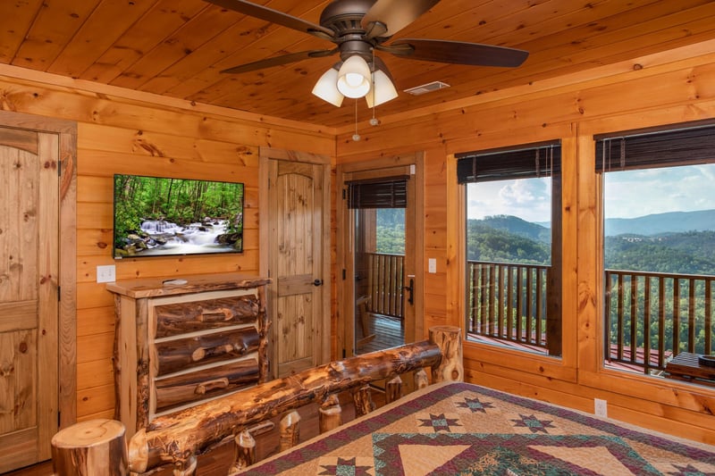
[[[669,355],[712,353],[715,276],[606,270],[607,360],[644,373]]]

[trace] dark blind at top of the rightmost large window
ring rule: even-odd
[[[596,136],[596,171],[715,162],[715,125]]]

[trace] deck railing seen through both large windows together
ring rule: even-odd
[[[549,267],[467,263],[467,334],[546,347]],[[668,358],[680,352],[712,354],[715,276],[604,272],[608,363],[652,373],[665,369]]]

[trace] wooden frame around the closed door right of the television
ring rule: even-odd
[[[270,278],[268,275],[269,263],[271,258],[271,243],[273,242],[273,237],[271,236],[271,216],[270,216],[270,188],[269,188],[269,161],[270,160],[282,160],[291,161],[297,163],[311,163],[317,165],[323,165],[323,230],[320,239],[322,240],[322,263],[321,263],[321,275],[324,281],[324,292],[322,293],[322,301],[320,303],[322,309],[322,322],[319,324],[322,327],[322,332],[318,342],[318,350],[315,353],[317,356],[317,361],[315,365],[322,363],[328,363],[331,361],[331,338],[332,338],[332,328],[331,328],[331,296],[332,296],[332,283],[330,279],[331,270],[331,158],[328,155],[323,154],[311,154],[307,152],[294,151],[289,149],[280,149],[273,147],[259,147],[258,150],[258,238],[260,241],[259,246],[259,258],[258,258],[258,270],[261,276]],[[267,299],[266,299],[266,313],[271,316],[270,303],[273,301],[274,289],[277,283],[271,282],[267,285]],[[272,346],[274,346],[275,328],[271,326],[269,341]],[[275,359],[275,348],[270,349],[269,355],[271,355],[271,361]],[[270,365],[269,374],[276,377],[278,372],[278,365]]]

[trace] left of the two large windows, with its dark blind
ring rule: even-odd
[[[458,154],[467,338],[561,355],[558,142]]]

